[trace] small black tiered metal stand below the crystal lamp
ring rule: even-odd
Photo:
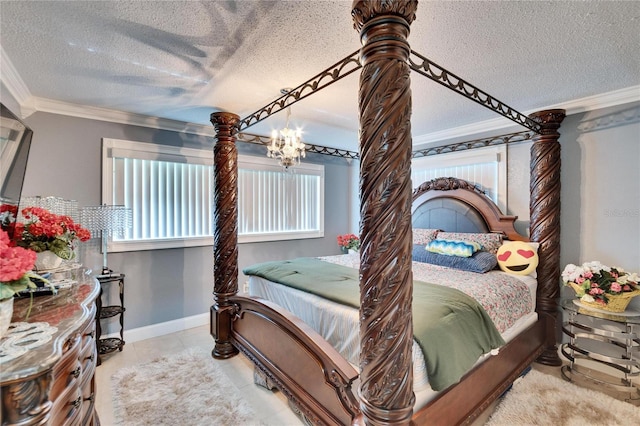
[[[110,273],[108,275],[98,275],[98,282],[100,283],[100,296],[96,300],[96,307],[98,308],[96,314],[96,346],[98,349],[98,365],[102,364],[100,355],[105,355],[116,350],[122,352],[124,346],[124,274]],[[102,294],[105,289],[113,284],[118,283],[118,296],[120,298],[119,305],[102,306]],[[107,318],[113,318],[119,316],[120,320],[120,338],[110,337],[101,339],[102,326],[101,320]]]

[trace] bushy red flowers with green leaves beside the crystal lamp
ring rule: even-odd
[[[36,253],[50,250],[63,259],[73,259],[73,243],[91,238],[91,233],[69,216],[57,215],[40,207],[22,209],[22,216],[27,221],[16,223],[15,244]]]

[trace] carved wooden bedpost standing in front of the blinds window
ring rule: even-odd
[[[211,114],[216,129],[214,161],[214,240],[211,335],[214,358],[238,353],[230,342],[233,307],[228,298],[238,292],[238,150],[235,145],[240,117],[229,112]]]

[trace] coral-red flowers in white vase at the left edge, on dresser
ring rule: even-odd
[[[35,261],[34,251],[12,246],[7,232],[0,230],[0,337],[11,324],[13,296],[28,288],[36,288],[32,278],[49,284],[47,279],[32,271]],[[53,286],[52,290],[55,291]]]

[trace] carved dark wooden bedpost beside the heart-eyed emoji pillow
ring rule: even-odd
[[[531,146],[529,211],[531,241],[540,243],[536,310],[545,321],[545,350],[538,362],[560,365],[556,346],[560,296],[560,123],[565,111],[552,109],[529,116],[542,126]]]

